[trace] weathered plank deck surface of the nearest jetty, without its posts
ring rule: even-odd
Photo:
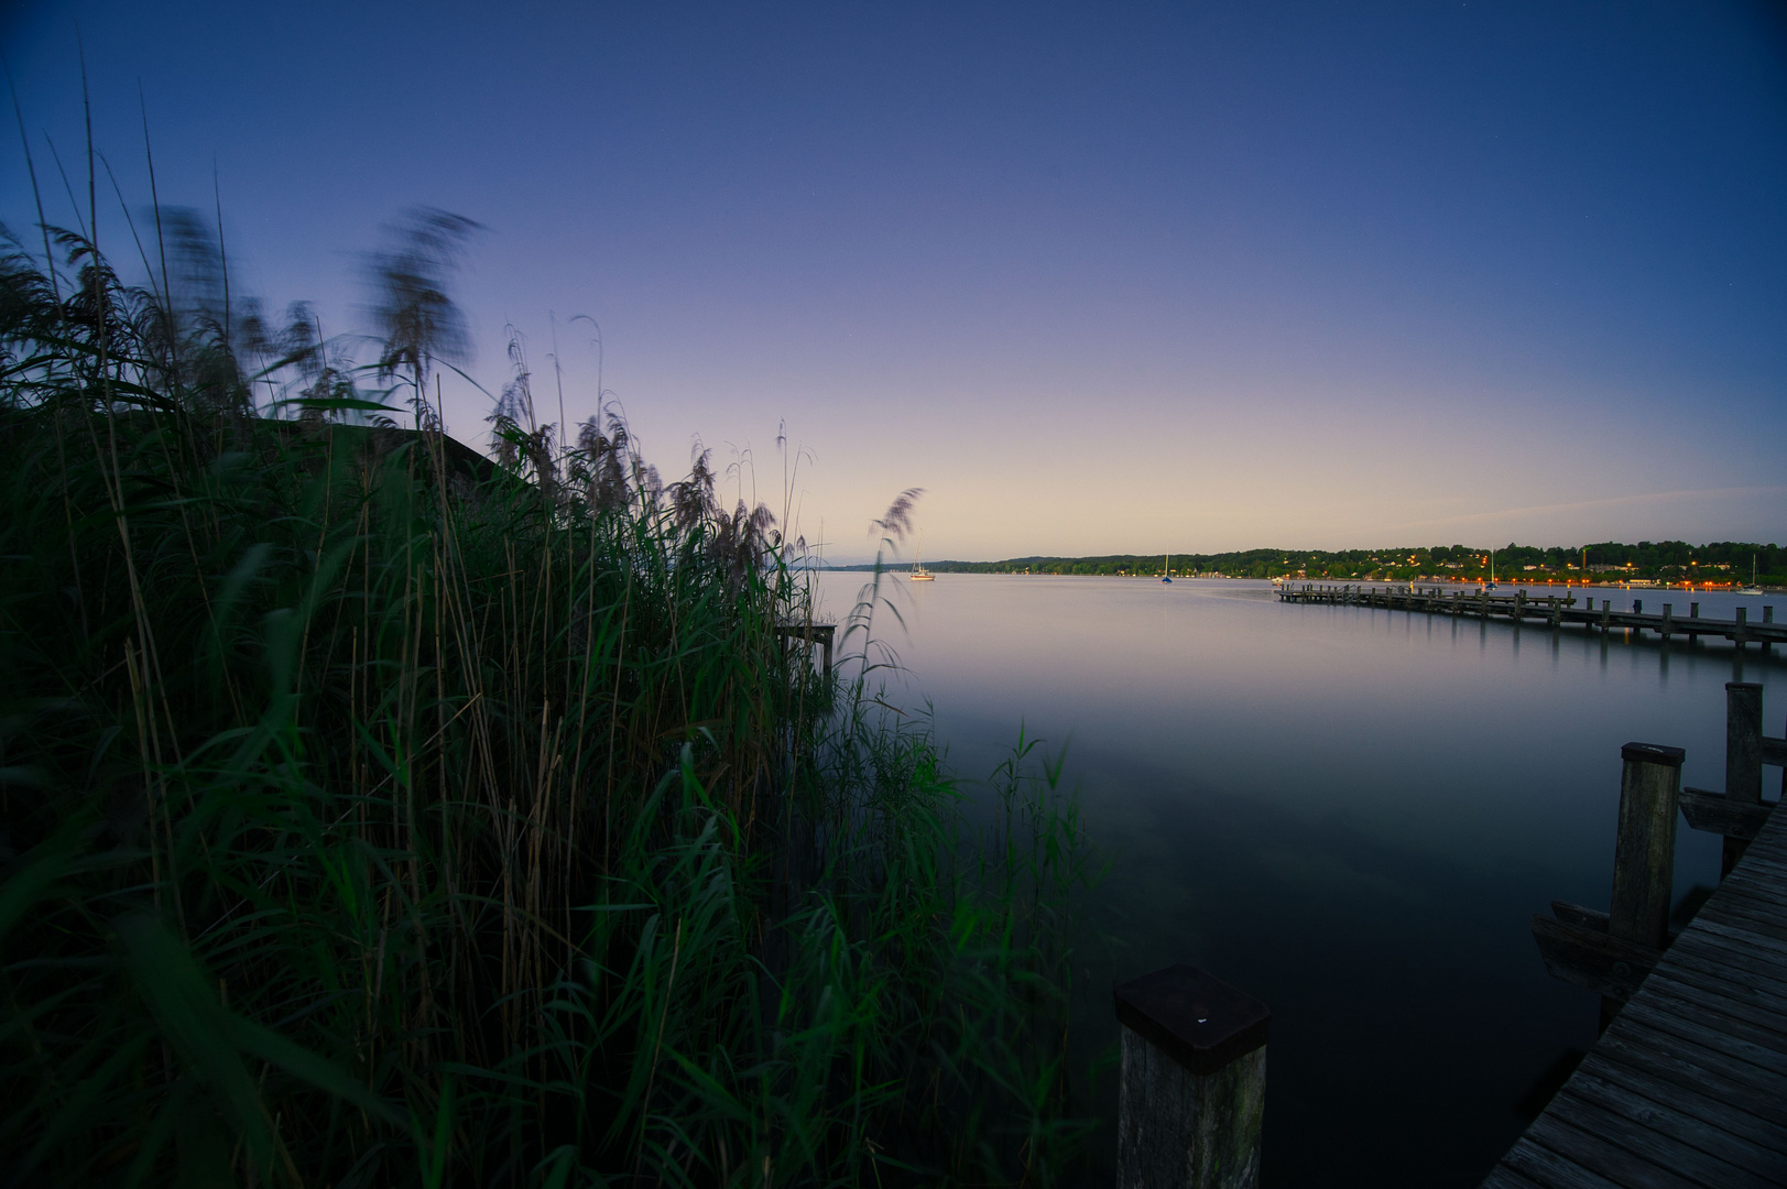
[[[1787,1185],[1787,814],[1483,1189]]]

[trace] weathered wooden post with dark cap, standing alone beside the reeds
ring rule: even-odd
[[[1117,987],[1119,1189],[1254,1189],[1265,1119],[1265,1003],[1196,966]]]

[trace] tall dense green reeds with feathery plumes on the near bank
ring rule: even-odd
[[[0,265],[0,1184],[1070,1178],[1058,765],[970,815],[881,576],[822,678],[801,544],[554,442],[518,340],[499,461],[440,433],[465,231],[365,365],[177,213],[141,288]]]

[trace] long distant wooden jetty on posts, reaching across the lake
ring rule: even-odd
[[[1774,608],[1764,604],[1762,620],[1751,622],[1749,608],[1737,608],[1737,619],[1701,619],[1699,603],[1689,603],[1687,615],[1676,615],[1674,603],[1662,603],[1658,613],[1644,611],[1644,599],[1633,603],[1630,611],[1615,611],[1612,599],[1578,599],[1574,594],[1530,595],[1515,590],[1510,595],[1496,595],[1487,590],[1446,590],[1442,586],[1353,586],[1353,585],[1283,585],[1278,588],[1279,603],[1326,603],[1333,606],[1381,606],[1392,611],[1414,611],[1424,615],[1456,615],[1465,619],[1506,619],[1514,624],[1539,624],[1546,628],[1581,626],[1589,631],[1632,631],[1644,635],[1653,631],[1664,640],[1671,637],[1714,637],[1733,642],[1739,649],[1746,644],[1787,644],[1787,624],[1774,622]]]

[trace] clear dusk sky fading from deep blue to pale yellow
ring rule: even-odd
[[[827,558],[922,486],[924,556],[994,560],[1787,538],[1782,13],[9,0],[0,46],[52,223],[84,46],[125,204],[147,113],[238,291],[368,329],[381,227],[454,211],[486,392],[515,325],[547,417],[556,358]]]

